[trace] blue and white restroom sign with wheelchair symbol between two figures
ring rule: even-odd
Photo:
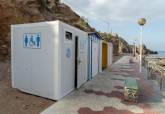
[[[24,48],[40,49],[41,34],[40,33],[25,33],[23,36]]]

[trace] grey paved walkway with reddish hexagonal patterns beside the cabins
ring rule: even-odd
[[[155,81],[147,81],[145,72],[138,73],[136,63],[124,56],[103,73],[87,82],[41,114],[165,114],[165,98]],[[140,101],[123,100],[124,79],[139,80]]]

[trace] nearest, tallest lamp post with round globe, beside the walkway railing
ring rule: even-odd
[[[146,24],[146,19],[145,18],[140,18],[138,21],[138,24],[141,26],[141,31],[140,31],[140,63],[139,63],[139,72],[142,72],[142,51],[143,51],[143,26]]]

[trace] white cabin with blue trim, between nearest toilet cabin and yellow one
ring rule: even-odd
[[[88,33],[88,80],[101,72],[101,41],[97,32]]]

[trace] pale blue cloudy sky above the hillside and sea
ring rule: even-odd
[[[165,0],[61,0],[87,18],[97,31],[113,32],[128,43],[138,44],[139,18],[146,18],[143,43],[152,50],[165,51]]]

